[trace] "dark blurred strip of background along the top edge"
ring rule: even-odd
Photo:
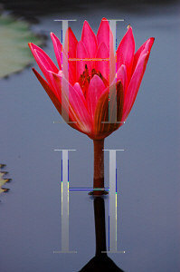
[[[149,12],[152,5],[162,7],[163,5],[178,4],[178,0],[33,0],[33,1],[7,1],[1,0],[1,3],[5,5],[5,9],[19,12],[23,15],[47,15],[50,13],[62,13],[62,12],[84,12],[91,8],[110,8],[115,6],[117,9],[127,10],[128,12],[143,13]]]

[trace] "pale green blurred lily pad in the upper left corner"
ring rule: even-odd
[[[33,34],[27,22],[0,16],[0,78],[20,72],[33,63],[30,41],[42,44],[42,39]]]

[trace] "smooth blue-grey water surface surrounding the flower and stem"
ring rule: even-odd
[[[97,32],[106,16],[125,20],[117,24],[118,43],[128,24],[136,49],[156,38],[128,120],[105,140],[105,149],[125,150],[117,152],[117,248],[126,253],[109,257],[126,272],[180,271],[179,9],[158,12],[101,8],[47,15],[34,26],[61,37],[61,23],[53,19],[77,19],[71,28],[80,40],[84,20]],[[55,61],[50,40],[44,50]],[[0,162],[13,179],[0,194],[0,271],[77,272],[95,255],[93,201],[87,191],[70,191],[70,250],[77,253],[53,254],[62,247],[62,153],[54,150],[76,150],[69,155],[70,187],[91,187],[92,141],[53,123],[61,117],[31,69],[1,80],[0,90]],[[108,187],[108,152],[105,178]],[[108,244],[109,197],[105,208]]]

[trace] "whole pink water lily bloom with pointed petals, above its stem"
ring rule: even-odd
[[[59,68],[40,47],[30,43],[46,81],[35,69],[33,73],[58,112],[69,114],[72,128],[93,140],[106,138],[128,118],[154,38],[149,38],[135,53],[132,28],[128,27],[114,55],[113,34],[106,18],[101,20],[97,35],[85,21],[79,42],[69,27],[64,48],[55,34],[51,37]],[[117,120],[114,120],[115,109]]]

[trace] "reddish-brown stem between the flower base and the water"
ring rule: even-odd
[[[94,182],[93,189],[101,188],[101,190],[94,190],[93,194],[104,194],[104,139],[93,140],[94,143]]]

